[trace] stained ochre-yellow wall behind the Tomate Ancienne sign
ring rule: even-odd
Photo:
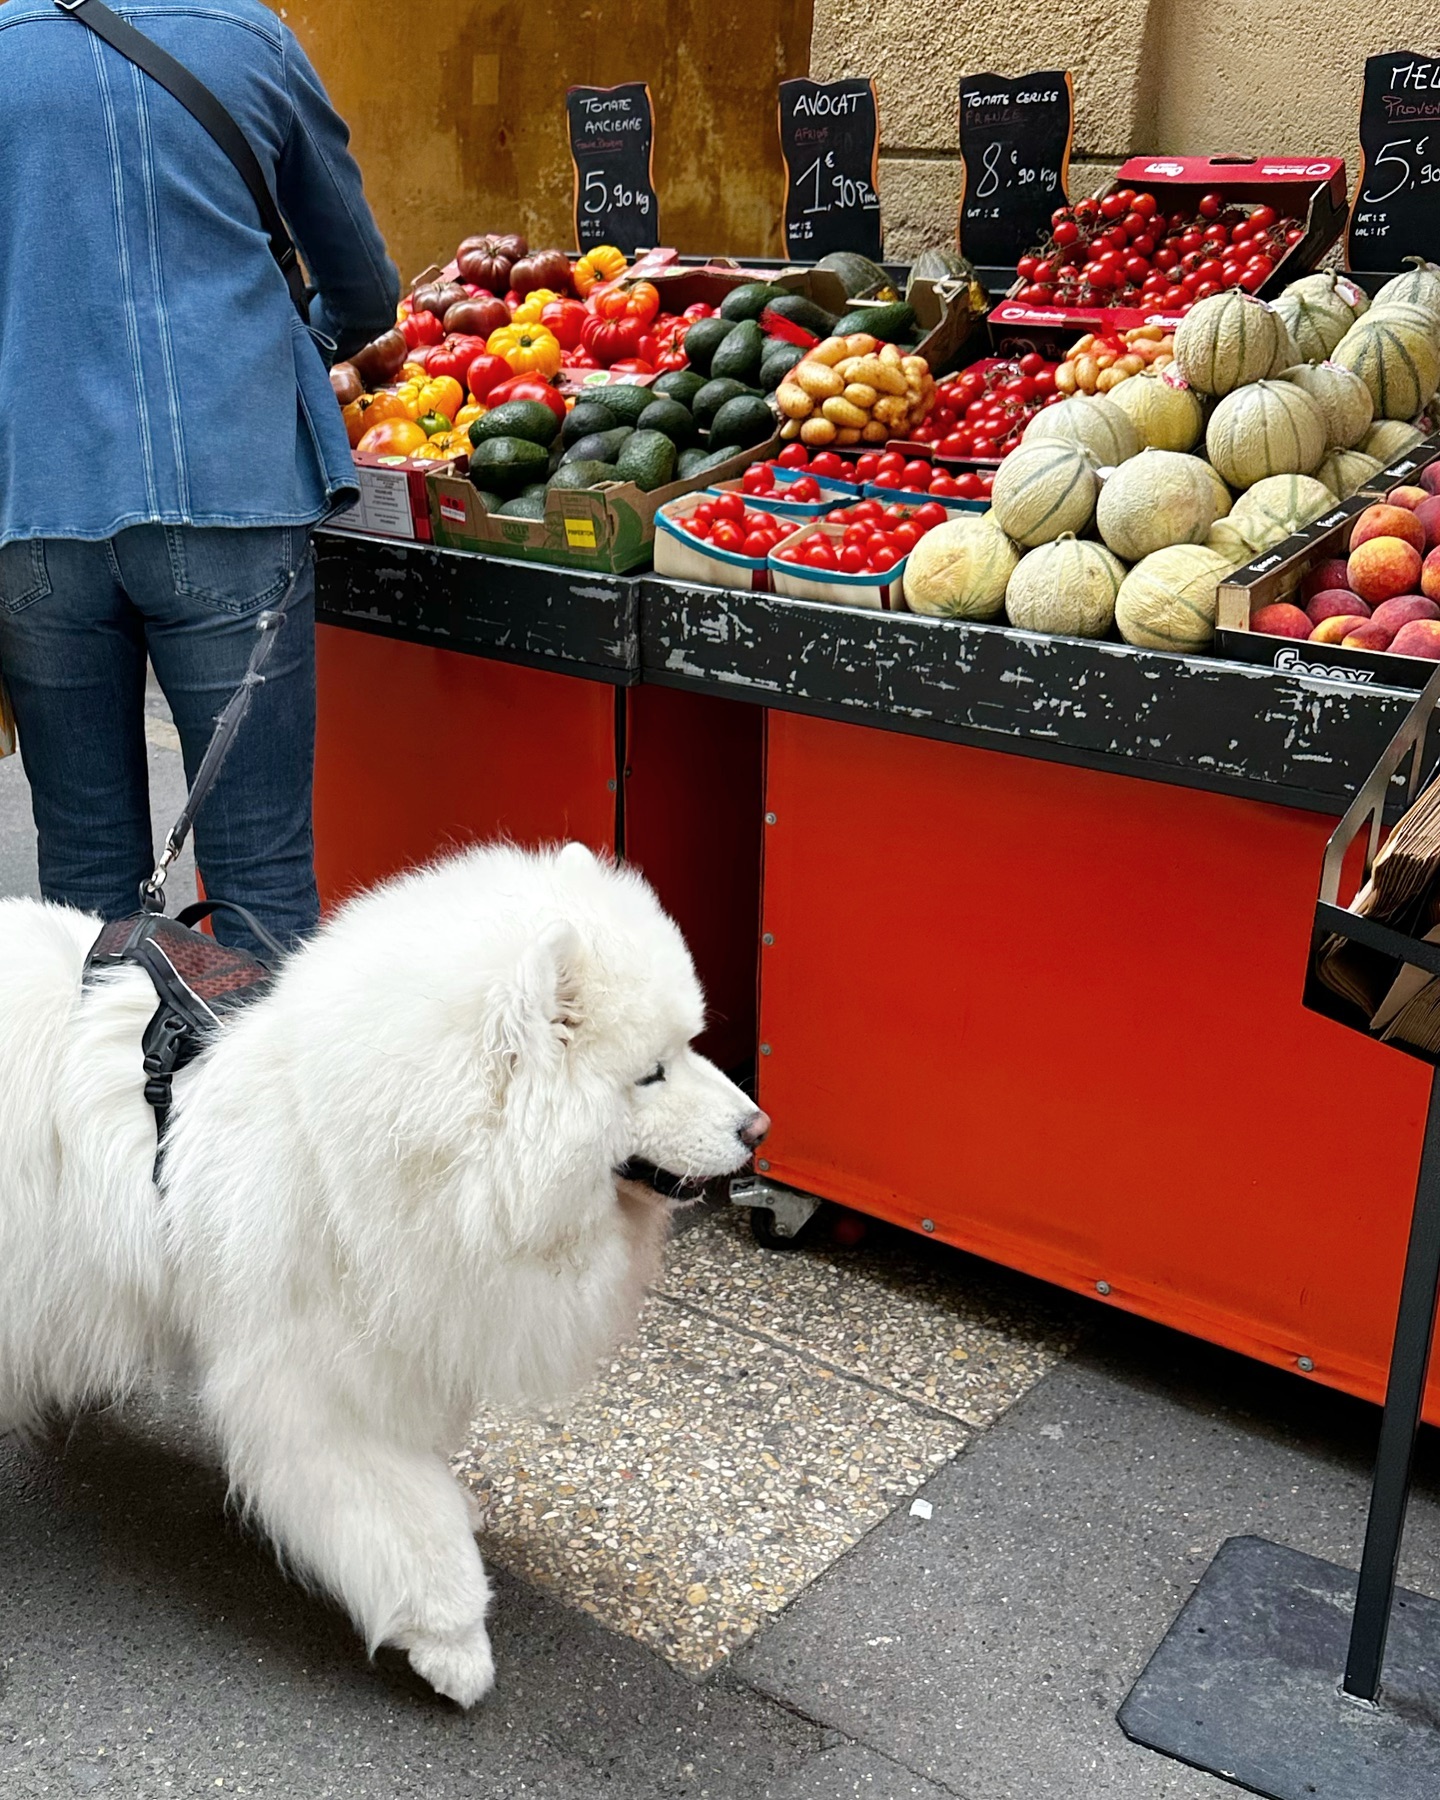
[[[400,265],[472,232],[574,248],[565,88],[648,81],[659,241],[779,256],[776,83],[810,59],[810,0],[290,0],[279,5],[351,124]]]

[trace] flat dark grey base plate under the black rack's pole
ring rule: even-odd
[[[1440,1602],[1397,1591],[1373,1708],[1339,1692],[1354,1604],[1352,1570],[1231,1537],[1120,1724],[1267,1800],[1436,1800]]]

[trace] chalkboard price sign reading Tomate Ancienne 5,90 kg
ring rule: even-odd
[[[574,162],[574,241],[581,250],[612,243],[626,256],[659,241],[661,203],[650,160],[655,117],[650,85],[571,88],[565,94]]]

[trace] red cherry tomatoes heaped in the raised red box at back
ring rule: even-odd
[[[1012,299],[1183,313],[1224,288],[1255,293],[1303,236],[1271,205],[1118,187],[1051,214],[1049,238],[1017,263]]]

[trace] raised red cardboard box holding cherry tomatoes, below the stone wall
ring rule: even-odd
[[[1282,216],[1303,221],[1305,236],[1280,259],[1262,284],[1260,299],[1274,299],[1298,275],[1309,274],[1345,229],[1343,157],[1130,157],[1100,194],[1136,187],[1157,194],[1166,207],[1199,202],[1219,193],[1235,203],[1265,203]],[[990,342],[1001,355],[1037,349],[1064,356],[1085,331],[1130,331],[1136,326],[1174,329],[1179,311],[1143,311],[1138,306],[1030,306],[1015,299],[1024,286],[990,310]]]

